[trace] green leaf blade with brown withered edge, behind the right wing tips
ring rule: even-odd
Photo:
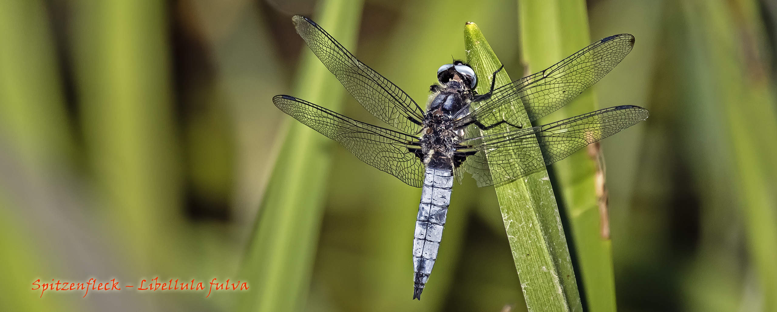
[[[521,47],[529,72],[541,71],[591,43],[585,2],[519,1]],[[627,104],[627,103],[620,103]],[[589,88],[542,123],[598,109]],[[615,311],[615,274],[609,237],[604,168],[598,144],[553,164],[563,209],[569,220],[587,310]]]

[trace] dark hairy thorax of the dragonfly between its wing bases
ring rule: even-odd
[[[429,168],[451,170],[461,165],[465,158],[455,154],[456,146],[463,140],[464,130],[453,128],[453,123],[469,113],[472,89],[458,76],[444,85],[433,85],[431,89],[436,94],[423,117],[422,160]]]

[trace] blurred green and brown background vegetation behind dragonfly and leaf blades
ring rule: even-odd
[[[595,85],[598,105],[651,111],[602,143],[618,310],[777,311],[777,2],[586,4],[592,41],[636,36]],[[276,222],[263,214],[265,190],[280,185],[273,168],[294,159],[283,141],[296,122],[271,97],[314,100],[302,95],[315,85],[329,92],[319,104],[375,121],[328,73],[305,82],[322,67],[291,16],[327,16],[361,61],[425,102],[434,70],[465,57],[467,21],[520,76],[517,7],[0,0],[0,310],[275,311],[252,303],[268,296],[293,303],[278,311],[525,310],[493,188],[456,186],[434,274],[413,301],[420,190],[326,140],[311,141],[328,155],[323,186],[294,191],[322,209],[286,216],[290,229],[304,219],[313,243],[281,246],[300,259],[270,277],[256,265],[273,255],[251,248],[261,221]],[[156,276],[253,288],[30,290],[36,279]]]

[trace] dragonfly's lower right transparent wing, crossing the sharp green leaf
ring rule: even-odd
[[[460,151],[476,151],[462,168],[472,174],[478,186],[498,185],[562,160],[646,120],[648,115],[647,109],[639,106],[615,106],[543,126],[472,138],[461,143],[469,149]]]

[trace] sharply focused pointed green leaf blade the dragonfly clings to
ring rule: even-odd
[[[475,23],[465,25],[467,61],[488,92],[501,63]],[[510,83],[506,71],[496,85]],[[524,120],[528,116],[524,113]],[[533,148],[539,148],[536,145]],[[545,170],[496,187],[510,249],[529,311],[582,311],[556,198]]]

